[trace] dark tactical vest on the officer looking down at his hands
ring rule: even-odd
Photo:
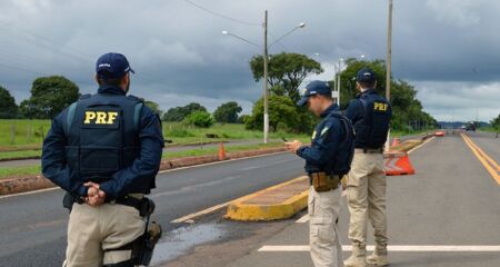
[[[344,176],[351,170],[351,162],[354,157],[354,128],[352,127],[351,120],[338,110],[330,112],[328,117],[340,120],[343,126],[344,137],[340,142],[339,152],[330,160],[327,172]]]

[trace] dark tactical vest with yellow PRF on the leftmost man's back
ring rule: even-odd
[[[142,106],[133,96],[96,93],[68,108],[66,157],[80,179],[108,180],[139,157]]]

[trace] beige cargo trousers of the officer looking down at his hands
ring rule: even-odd
[[[337,221],[341,189],[317,192],[309,188],[309,244],[314,267],[342,267],[342,246]]]

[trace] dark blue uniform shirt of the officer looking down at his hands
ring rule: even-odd
[[[338,110],[337,105],[330,106],[321,113],[322,120],[316,127],[312,135],[311,146],[304,146],[297,150],[297,155],[306,159],[306,172],[328,171],[326,168],[329,161],[339,152],[340,145],[344,137],[342,122],[328,115]]]

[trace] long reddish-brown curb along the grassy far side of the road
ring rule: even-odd
[[[228,154],[226,160],[228,159],[239,159],[252,156],[283,152],[284,148],[268,148],[258,149],[242,152]],[[199,156],[199,157],[187,157],[179,159],[162,160],[160,165],[160,170],[169,170],[182,167],[191,167],[202,164],[210,164],[221,161],[217,155]],[[39,189],[46,189],[56,187],[49,179],[44,178],[42,175],[27,176],[27,177],[16,177],[0,180],[0,196],[19,194]]]

